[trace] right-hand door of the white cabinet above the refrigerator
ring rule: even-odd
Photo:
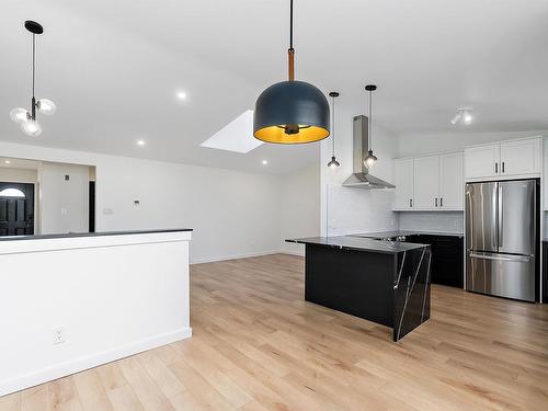
[[[536,174],[540,172],[540,138],[501,142],[502,175]]]

